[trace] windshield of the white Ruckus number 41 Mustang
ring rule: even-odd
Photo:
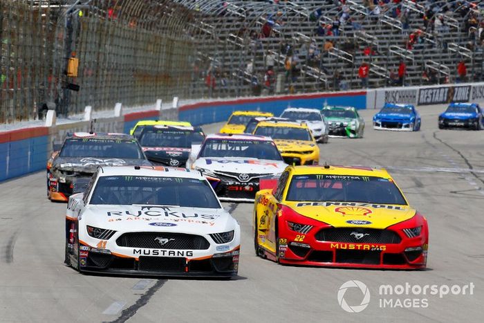
[[[161,176],[102,176],[97,180],[90,204],[220,208],[207,181]]]

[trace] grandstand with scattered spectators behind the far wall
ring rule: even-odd
[[[462,59],[467,81],[483,78],[481,1],[380,1],[376,9],[366,0],[176,2],[199,15],[192,97],[361,89],[362,62],[369,87],[398,85],[400,62],[404,85],[455,82]]]

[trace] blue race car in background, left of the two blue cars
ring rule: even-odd
[[[411,104],[385,103],[373,116],[373,129],[395,131],[419,131],[420,114]]]

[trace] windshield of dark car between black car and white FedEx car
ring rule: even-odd
[[[176,129],[145,130],[139,140],[142,147],[189,148],[192,145],[193,132]]]

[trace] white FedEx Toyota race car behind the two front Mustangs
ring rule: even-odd
[[[288,166],[271,138],[247,134],[208,135],[198,156],[190,158],[187,165],[211,178],[222,201],[254,201],[259,179]]]

